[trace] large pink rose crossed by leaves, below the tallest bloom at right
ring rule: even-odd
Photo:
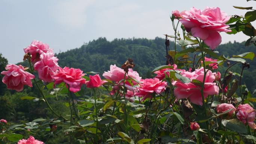
[[[207,70],[206,70],[207,71]],[[203,82],[204,79],[204,68],[196,69],[193,72],[185,71],[181,73],[183,77],[188,77],[191,81],[193,79]],[[216,73],[212,73],[208,70],[205,76],[204,83],[204,97],[208,95],[217,95],[219,94],[219,87],[214,83]],[[189,98],[193,104],[202,105],[202,87],[196,85],[192,82],[182,83],[181,81],[174,81],[172,85],[176,86],[174,89],[174,95],[178,99]]]

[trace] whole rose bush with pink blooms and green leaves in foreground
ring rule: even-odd
[[[19,125],[1,119],[0,142],[47,144],[48,138],[64,135],[63,143],[70,144],[256,143],[256,100],[241,84],[244,68],[250,67],[246,59],[255,54],[230,58],[213,51],[221,42],[219,32],[231,32],[229,19],[219,7],[174,10],[175,33],[165,42],[167,64],[156,66],[153,78],[140,77],[131,59],[120,67],[110,65],[103,74],[61,68],[53,49],[34,40],[24,49],[30,67],[6,65],[2,81],[18,92],[34,85],[39,95],[24,99],[40,100],[55,117]],[[174,50],[168,50],[168,37],[174,39]],[[224,64],[226,70],[219,70]],[[238,64],[241,74],[229,69]],[[66,105],[69,114],[57,113],[50,98]],[[48,133],[45,142],[35,139],[40,132]]]

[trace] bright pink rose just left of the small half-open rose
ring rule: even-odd
[[[86,82],[86,80],[82,78],[82,76],[84,75],[85,74],[83,74],[83,71],[81,71],[80,69],[60,67],[59,71],[54,73],[54,84],[60,84],[62,82],[65,82],[69,85],[69,90],[71,92],[78,92],[80,91],[81,86]]]

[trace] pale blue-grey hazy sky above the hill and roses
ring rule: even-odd
[[[79,48],[99,37],[148,38],[173,35],[172,10],[220,7],[228,15],[253,6],[246,0],[0,0],[0,53],[10,64],[21,62],[23,48],[33,40],[47,43],[54,52]],[[243,42],[243,33],[222,33],[222,43]]]

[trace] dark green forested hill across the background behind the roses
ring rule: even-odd
[[[174,43],[170,42],[170,49],[174,50]],[[178,46],[179,49],[179,46]],[[244,52],[256,53],[255,46],[244,46],[244,43],[229,42],[220,45],[217,49],[220,54],[225,56],[238,55]],[[119,67],[131,58],[135,62],[135,70],[141,76],[152,76],[151,71],[160,65],[165,65],[165,39],[156,37],[149,39],[115,39],[107,41],[106,38],[92,40],[80,48],[71,49],[67,52],[58,53],[59,65],[80,68],[84,72],[94,71],[103,73],[109,70],[111,64]],[[243,81],[253,90],[256,88],[256,59],[248,60],[251,64],[249,70],[244,70]],[[240,73],[240,65],[235,67],[237,73]],[[224,68],[222,68],[224,70]]]

